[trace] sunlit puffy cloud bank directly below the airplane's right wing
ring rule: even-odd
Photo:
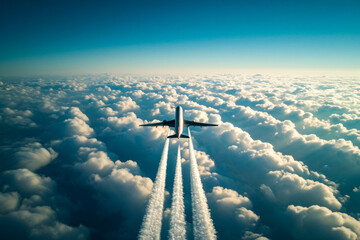
[[[208,136],[212,136],[211,141],[207,141]],[[210,156],[216,157],[216,159],[219,158],[220,165],[235,167],[229,169],[230,171],[253,170],[267,173],[269,169],[283,169],[300,175],[309,174],[307,166],[302,162],[274,151],[269,143],[253,140],[248,133],[229,123],[223,123],[217,128],[207,129],[204,134],[197,134],[196,139],[201,143],[207,143],[206,146],[210,150]],[[257,166],[257,169],[252,169],[254,165]],[[255,178],[257,177],[254,176],[252,180],[255,181]]]

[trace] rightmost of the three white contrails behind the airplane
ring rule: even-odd
[[[191,201],[195,239],[216,239],[216,231],[210,217],[204,189],[202,187],[194,146],[189,132]]]

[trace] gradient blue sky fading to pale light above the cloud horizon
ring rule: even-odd
[[[355,0],[7,0],[0,29],[0,75],[360,69]]]

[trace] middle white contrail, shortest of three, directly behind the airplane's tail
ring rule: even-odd
[[[174,190],[171,204],[169,239],[186,239],[186,222],[184,214],[180,145],[178,145],[178,153],[176,159]]]

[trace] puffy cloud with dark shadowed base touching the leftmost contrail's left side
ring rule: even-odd
[[[126,167],[129,165],[133,169]],[[114,232],[109,235],[110,239],[133,239],[138,235],[153,182],[149,178],[135,175],[134,165],[134,162],[121,164],[117,161],[109,175],[94,175],[91,181],[91,185],[98,189],[95,199],[99,203],[100,217],[117,222],[112,229]]]

